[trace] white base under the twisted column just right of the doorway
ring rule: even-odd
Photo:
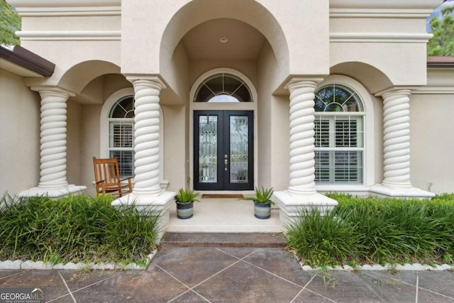
[[[275,197],[279,205],[279,219],[284,224],[284,229],[287,224],[292,223],[294,218],[299,217],[302,209],[316,207],[323,215],[338,204],[336,200],[318,193],[297,196],[285,191],[275,192]]]

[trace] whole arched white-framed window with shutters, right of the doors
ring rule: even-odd
[[[315,92],[316,184],[362,184],[364,109],[359,95],[341,84]]]

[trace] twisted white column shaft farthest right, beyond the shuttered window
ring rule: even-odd
[[[411,187],[410,105],[411,92],[401,89],[383,97],[384,180],[386,187]]]

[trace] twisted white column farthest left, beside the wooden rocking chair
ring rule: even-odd
[[[41,165],[38,187],[66,187],[66,101],[70,92],[58,87],[39,90],[41,96]]]

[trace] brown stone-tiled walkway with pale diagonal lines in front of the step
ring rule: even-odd
[[[46,302],[454,302],[454,272],[322,275],[282,248],[171,243],[146,270],[2,270],[0,287],[44,287]]]

